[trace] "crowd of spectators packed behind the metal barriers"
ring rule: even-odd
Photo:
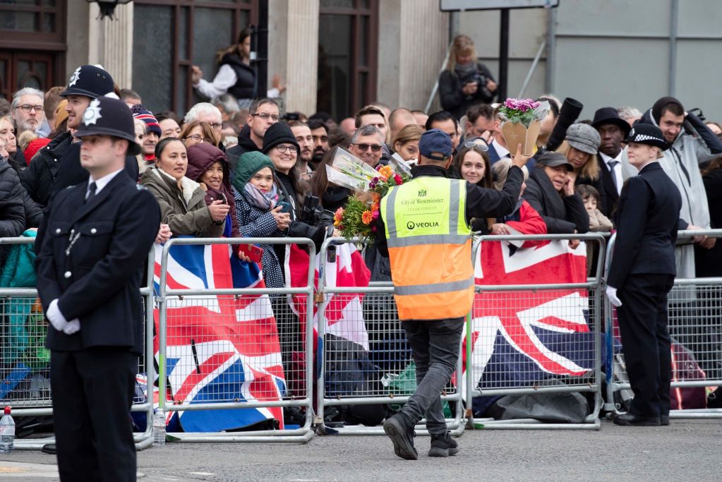
[[[324,167],[336,150],[347,149],[371,167],[387,163],[393,153],[413,165],[419,138],[430,128],[448,133],[456,146],[449,176],[489,189],[503,186],[514,146],[508,146],[501,133],[497,84],[465,35],[454,41],[440,76],[444,110],[424,113],[414,105],[389,109],[372,104],[343,119],[296,113],[286,120],[289,116],[282,115],[274,98],[252,98],[245,88],[255,79],[248,68],[247,44],[248,35],[242,32],[238,45],[219,56],[213,82],[193,69],[194,86],[212,99],[183,115],[154,114],[142,105],[142,92],[119,89],[99,67],[83,67],[97,69],[103,79],[107,75],[109,84],[98,94],[117,95],[134,114],[142,153],[129,159],[129,165],[160,203],[159,241],[173,235],[310,237],[320,245],[334,232],[329,212],[344,206],[351,194],[326,178]],[[279,95],[279,79],[274,85],[269,93]],[[0,105],[3,237],[37,228],[53,193],[82,180],[77,172],[79,139],[73,133],[90,97],[62,97],[65,89],[23,88],[6,108]],[[610,106],[597,110],[593,119],[575,119],[559,137],[562,102],[551,95],[539,100],[548,100],[551,109],[541,122],[516,208],[499,219],[472,219],[474,230],[573,234],[614,229],[622,183],[634,174],[624,144],[634,123],[659,126],[671,146],[660,162],[683,194],[682,227],[722,227],[718,123],[689,113],[673,97],[661,97],[643,111],[615,108],[609,100]],[[282,250],[282,245],[264,246],[267,286],[284,285]],[[246,259],[243,250],[235,253]],[[375,250],[364,255],[372,281],[390,280],[388,258]],[[677,255],[678,276],[722,274],[722,246],[713,237],[695,236]]]

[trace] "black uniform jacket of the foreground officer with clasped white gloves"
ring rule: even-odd
[[[73,335],[49,326],[46,346],[59,351],[118,346],[141,354],[139,289],[160,208],[123,172],[87,203],[86,193],[87,182],[58,192],[35,242],[43,310],[58,299],[66,320],[79,318],[81,325]]]

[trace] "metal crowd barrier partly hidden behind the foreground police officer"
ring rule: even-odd
[[[0,238],[1,245],[30,245],[35,242],[33,237],[11,237]],[[146,286],[140,290],[144,306],[152,306],[153,282],[153,252],[149,254],[150,269],[147,272]],[[14,369],[19,369],[19,363],[24,365],[28,374],[19,382],[20,388],[6,390],[8,387],[0,387],[5,393],[0,397],[0,406],[12,406],[14,417],[23,416],[51,416],[53,414],[53,400],[50,387],[50,351],[45,349],[45,333],[48,330],[48,323],[43,316],[43,308],[38,299],[38,290],[35,288],[0,288],[1,312],[0,320],[2,326],[2,356],[1,372],[4,376],[10,376]],[[152,310],[146,310],[146,325],[144,340],[147,353],[153,349],[153,317]],[[139,357],[138,372],[147,372],[145,385],[146,393],[152,394],[152,380],[155,375],[152,373],[153,364],[146,363],[144,356]],[[4,385],[8,385],[5,382]],[[134,433],[136,449],[142,450],[153,442],[152,418],[153,405],[151,401],[136,398],[133,412],[146,413],[146,429],[143,432]],[[42,438],[16,438],[14,446],[17,450],[40,450],[43,445],[55,442],[55,437]]]

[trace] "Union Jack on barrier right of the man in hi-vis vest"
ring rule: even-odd
[[[518,249],[483,242],[474,261],[478,285],[586,282],[584,243],[542,242]],[[586,289],[481,292],[474,299],[473,380],[482,388],[526,387],[593,369],[594,335]],[[465,347],[466,345],[464,345]]]

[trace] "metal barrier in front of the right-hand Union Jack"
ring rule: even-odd
[[[578,299],[567,299],[562,302],[562,306],[557,309],[561,310],[580,310],[586,308],[588,310],[587,325],[590,333],[593,336],[593,351],[588,349],[581,349],[578,356],[583,358],[583,362],[588,368],[588,372],[582,376],[569,376],[569,375],[554,375],[549,380],[554,381],[554,385],[547,385],[547,380],[531,380],[529,382],[503,382],[503,383],[487,383],[482,385],[482,380],[474,380],[474,367],[475,357],[479,354],[475,353],[472,346],[472,336],[474,328],[483,329],[485,320],[479,323],[479,327],[474,326],[473,319],[467,327],[466,333],[466,416],[469,419],[469,426],[474,426],[474,422],[482,425],[484,429],[593,429],[598,430],[600,427],[599,411],[602,406],[601,399],[601,298],[602,298],[602,281],[601,274],[604,267],[604,253],[606,252],[604,247],[606,246],[606,240],[604,235],[601,233],[589,233],[586,235],[502,235],[502,236],[482,236],[474,243],[474,260],[477,258],[477,250],[479,250],[482,242],[487,241],[533,241],[533,240],[580,240],[585,242],[599,243],[599,259],[596,265],[596,272],[593,273],[593,277],[588,278],[584,283],[575,284],[508,284],[508,285],[477,285],[476,291],[479,294],[492,293],[495,294],[492,299],[493,302],[498,303],[499,297],[503,297],[503,302],[507,304],[513,304],[515,302],[521,302],[524,306],[536,306],[535,298],[544,297],[544,294],[554,294],[554,292],[560,292],[560,297],[568,294],[570,290],[586,290],[588,292],[588,306],[583,301],[585,297],[579,297]],[[531,249],[531,248],[530,248]],[[529,298],[531,297],[531,302]],[[565,296],[566,297],[566,296]],[[541,301],[540,301],[541,302]],[[475,298],[474,301],[474,312],[477,310],[484,309],[484,300]],[[516,316],[515,314],[508,314],[506,316]],[[500,323],[504,323],[504,320],[500,318]],[[493,343],[493,341],[492,341]],[[533,343],[531,337],[526,343]],[[521,345],[521,344],[520,344]],[[532,346],[518,346],[518,349],[527,351],[533,348]],[[547,347],[552,351],[552,347]],[[583,351],[582,351],[583,350]],[[548,354],[551,359],[554,359],[554,354]],[[478,362],[484,365],[487,362],[480,360]],[[491,371],[490,376],[492,380],[495,379],[496,373],[503,370],[503,367],[493,366],[488,363],[484,366],[484,374],[487,371]],[[495,385],[503,385],[498,387]],[[542,423],[537,419],[511,419],[511,420],[495,420],[495,419],[477,419],[473,417],[473,398],[482,395],[523,395],[523,394],[539,394],[539,393],[591,393],[593,394],[593,407],[591,413],[586,416],[583,423]],[[479,427],[481,428],[481,427]]]

